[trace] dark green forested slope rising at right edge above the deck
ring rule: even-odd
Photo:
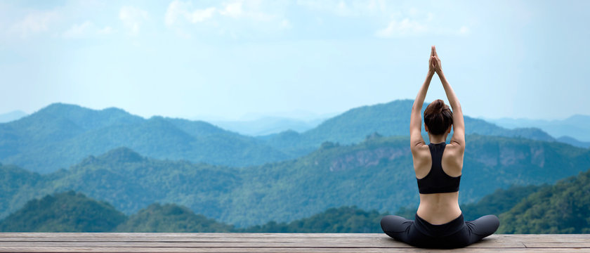
[[[499,233],[590,233],[590,171],[542,188],[500,215]]]

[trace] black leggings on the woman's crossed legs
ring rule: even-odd
[[[463,214],[441,225],[433,225],[416,214],[414,221],[388,215],[381,219],[381,229],[394,238],[415,247],[450,249],[465,247],[496,232],[500,221],[495,215],[464,221]]]

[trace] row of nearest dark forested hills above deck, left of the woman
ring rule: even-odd
[[[379,233],[379,221],[385,215],[340,207],[290,223],[270,221],[262,226],[235,228],[176,204],[154,203],[128,217],[108,203],[70,191],[30,200],[0,221],[0,232]]]

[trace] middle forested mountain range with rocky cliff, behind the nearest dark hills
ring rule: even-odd
[[[479,135],[466,139],[461,203],[497,188],[554,183],[590,167],[590,150],[563,143]],[[76,190],[126,214],[154,202],[173,202],[241,228],[302,219],[330,207],[393,213],[418,201],[407,143],[407,137],[379,135],[356,145],[327,142],[295,160],[245,168],[155,160],[128,148],[46,175],[4,165],[2,178],[22,183],[3,186],[0,212],[4,217],[33,197]]]

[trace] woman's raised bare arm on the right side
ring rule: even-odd
[[[438,78],[442,83],[442,88],[445,89],[447,99],[453,109],[453,136],[451,137],[450,144],[459,146],[462,151],[465,148],[465,122],[463,119],[461,104],[459,103],[459,98],[457,98],[457,95],[455,95],[451,85],[447,81],[445,73],[442,72],[442,65],[440,63],[440,58],[438,58],[438,54],[436,53],[436,48],[434,46],[432,48],[434,56],[431,58],[435,59],[433,61],[435,72],[438,74]]]

